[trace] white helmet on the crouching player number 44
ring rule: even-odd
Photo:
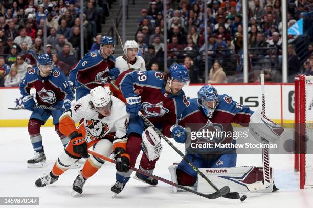
[[[90,96],[95,107],[104,107],[111,102],[111,96],[102,86],[91,89]]]

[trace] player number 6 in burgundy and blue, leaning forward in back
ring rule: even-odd
[[[76,100],[87,95],[91,89],[104,86],[111,80],[115,80],[120,70],[115,68],[114,39],[111,36],[103,36],[100,42],[100,50],[88,52],[70,71],[69,81],[73,87],[82,87],[76,90]],[[95,81],[96,80],[96,81]],[[95,81],[88,85],[88,82]]]

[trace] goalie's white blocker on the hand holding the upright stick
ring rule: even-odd
[[[283,133],[284,128],[267,118],[261,112],[261,109],[258,108],[258,110],[250,116],[249,131],[259,142],[262,142],[263,138],[271,143],[275,143]]]

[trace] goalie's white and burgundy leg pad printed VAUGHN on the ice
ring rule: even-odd
[[[271,168],[270,187],[265,188],[263,179],[263,168],[254,166],[234,168],[199,168],[205,176],[210,178],[217,188],[228,186],[230,192],[272,192],[274,185],[273,168]],[[215,190],[208,186],[207,181],[198,177],[198,191],[202,193],[213,193]]]

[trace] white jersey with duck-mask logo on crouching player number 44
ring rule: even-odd
[[[129,122],[129,114],[126,112],[124,102],[118,98],[111,96],[112,107],[109,116],[102,116],[95,109],[91,109],[89,102],[91,101],[90,95],[86,95],[72,105],[71,112],[69,113],[75,123],[84,119],[86,130],[86,142],[91,142],[95,139],[102,139],[108,133],[115,132],[115,142],[124,142],[127,140],[127,126]]]

